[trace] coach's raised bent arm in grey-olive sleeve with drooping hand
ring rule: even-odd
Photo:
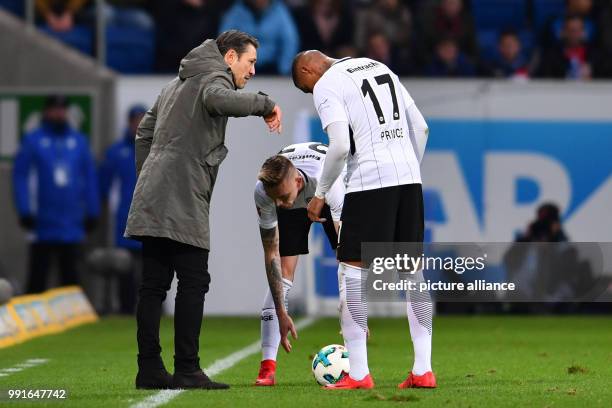
[[[238,92],[224,76],[211,80],[202,98],[206,111],[213,116],[262,116],[270,131],[280,130],[280,107],[268,95]]]

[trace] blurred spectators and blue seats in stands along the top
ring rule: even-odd
[[[24,0],[0,0],[23,15]],[[94,0],[36,0],[41,30],[95,54]],[[399,75],[612,77],[612,0],[106,0],[107,64],[173,73],[206,38],[236,28],[261,47],[258,73],[287,75],[320,49]]]

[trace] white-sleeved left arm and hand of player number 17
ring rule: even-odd
[[[332,188],[346,163],[351,148],[348,122],[333,122],[325,129],[329,137],[329,148],[325,155],[325,164],[315,195],[308,203],[308,218],[311,221],[323,222],[320,218],[325,204],[325,194]]]

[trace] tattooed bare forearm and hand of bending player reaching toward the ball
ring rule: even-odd
[[[281,273],[281,258],[278,248],[278,227],[259,228],[261,234],[261,243],[264,248],[264,259],[266,263],[266,276],[268,277],[268,285],[270,286],[270,294],[274,300],[276,308],[276,316],[278,317],[278,328],[281,335],[281,344],[287,351],[291,351],[291,343],[287,338],[289,332],[294,339],[297,339],[297,331],[293,324],[293,320],[285,309],[283,302],[283,275]]]

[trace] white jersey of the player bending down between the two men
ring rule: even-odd
[[[296,197],[292,208],[306,208],[314,197],[323,171],[325,153],[327,153],[327,145],[316,142],[292,144],[279,152],[279,154],[291,160],[291,163],[304,178],[304,188]],[[340,176],[325,196],[325,202],[329,205],[334,221],[340,221],[344,191],[343,177]],[[261,181],[257,181],[255,184],[255,205],[259,216],[259,226],[264,229],[274,228],[278,223],[276,204],[266,194]]]

